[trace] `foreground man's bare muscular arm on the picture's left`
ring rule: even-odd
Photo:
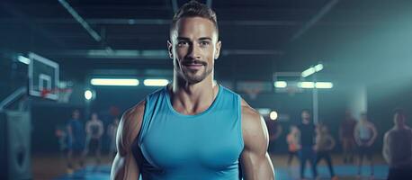
[[[139,162],[132,153],[132,144],[138,137],[145,102],[140,102],[127,112],[124,112],[116,135],[118,152],[112,164],[111,180],[138,180],[140,175]],[[139,154],[139,153],[138,153]],[[137,157],[139,160],[139,157]]]

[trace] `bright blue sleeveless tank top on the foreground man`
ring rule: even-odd
[[[244,147],[240,96],[219,85],[209,109],[196,115],[176,112],[170,99],[166,87],[146,98],[136,142],[143,157],[141,177],[238,180]]]

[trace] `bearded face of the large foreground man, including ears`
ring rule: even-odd
[[[186,17],[176,22],[171,36],[167,44],[177,76],[190,84],[210,76],[221,46],[215,25],[202,17]]]

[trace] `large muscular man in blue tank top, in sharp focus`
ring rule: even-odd
[[[196,1],[184,4],[167,44],[173,83],[124,113],[111,178],[273,179],[263,118],[213,83],[216,14]]]

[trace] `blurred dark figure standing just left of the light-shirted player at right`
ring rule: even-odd
[[[356,121],[351,112],[345,112],[345,119],[339,126],[339,139],[344,150],[344,163],[354,162],[354,126]]]

